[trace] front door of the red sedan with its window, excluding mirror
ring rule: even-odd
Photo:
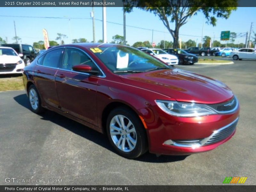
[[[98,126],[96,98],[100,74],[94,76],[74,71],[72,67],[75,65],[89,65],[92,70],[100,71],[86,52],[77,48],[66,48],[56,74],[61,110]]]

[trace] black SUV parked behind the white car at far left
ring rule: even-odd
[[[26,44],[2,44],[3,47],[12,47],[18,54],[23,54],[21,59],[24,60],[25,65],[29,65],[36,57],[35,50],[31,45]]]

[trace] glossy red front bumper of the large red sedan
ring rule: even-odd
[[[148,110],[150,114],[158,114],[154,121],[152,117],[144,117],[149,152],[160,155],[189,155],[212,150],[234,135],[239,116],[239,107],[233,114],[200,117],[170,116],[157,107],[156,112]]]

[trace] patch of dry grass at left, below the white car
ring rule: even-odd
[[[10,90],[23,90],[24,85],[22,82],[22,76],[17,75],[1,75],[0,76],[0,91]]]

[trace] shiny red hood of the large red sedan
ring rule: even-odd
[[[158,92],[178,101],[212,104],[233,97],[233,92],[220,81],[180,69],[164,69],[120,77],[126,84]]]

